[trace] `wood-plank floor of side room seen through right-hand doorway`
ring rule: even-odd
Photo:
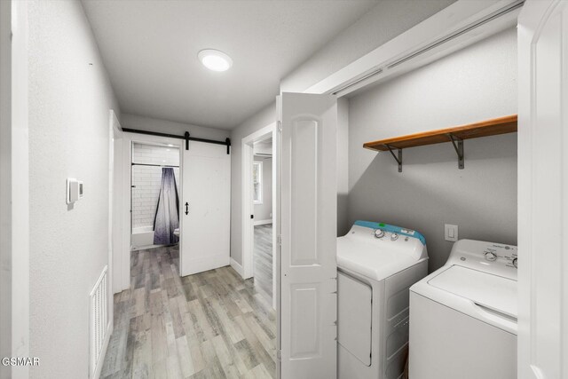
[[[272,224],[255,226],[255,285],[272,302]]]

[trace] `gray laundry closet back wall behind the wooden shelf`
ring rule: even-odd
[[[448,144],[388,152],[364,142],[517,113],[517,34],[512,28],[350,99],[349,223],[382,221],[424,234],[430,270],[459,237],[517,243],[517,134],[465,141],[465,169]]]

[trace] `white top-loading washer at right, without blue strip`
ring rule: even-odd
[[[517,378],[517,247],[461,240],[410,288],[410,379]]]

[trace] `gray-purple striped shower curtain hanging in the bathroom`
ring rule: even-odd
[[[179,227],[179,198],[174,169],[162,168],[162,189],[154,217],[154,245],[171,245],[179,239],[174,230]]]

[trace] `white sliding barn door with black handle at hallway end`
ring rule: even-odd
[[[181,275],[229,265],[231,155],[225,145],[183,147],[179,197]]]

